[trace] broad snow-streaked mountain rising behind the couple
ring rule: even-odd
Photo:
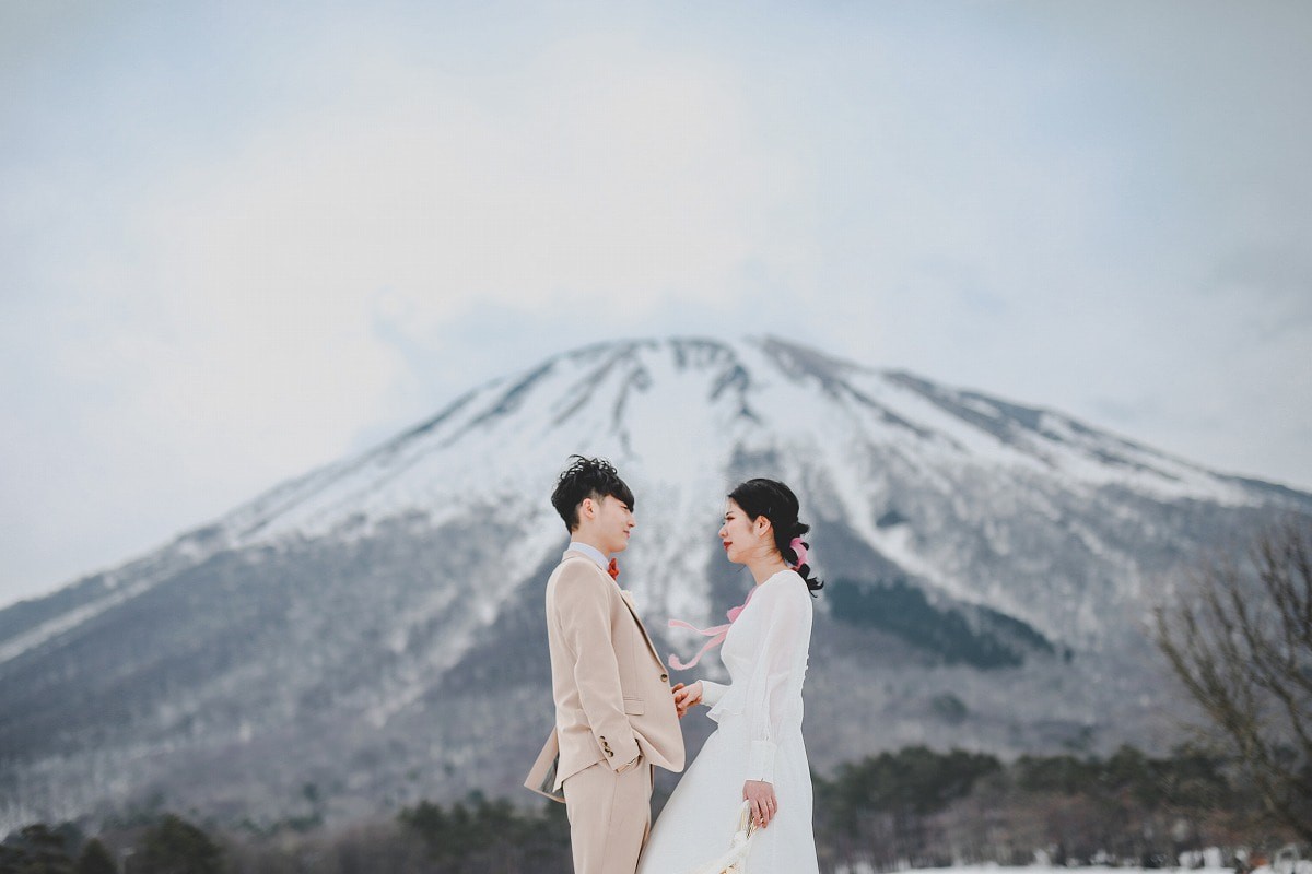
[[[750,584],[718,548],[726,491],[798,490],[829,583],[806,696],[821,770],[918,742],[1166,746],[1156,590],[1219,539],[1312,514],[1304,493],[779,339],[600,343],[0,611],[0,829],[516,793],[551,721],[542,586],[565,533],[547,495],[575,452],[634,487],[622,582],[666,650],[695,646],[665,618],[714,622]]]

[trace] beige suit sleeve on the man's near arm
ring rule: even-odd
[[[619,663],[610,625],[606,587],[594,574],[567,570],[556,580],[556,609],[565,646],[573,656],[579,702],[597,746],[613,770],[621,770],[640,753],[634,730],[625,715]],[[618,592],[615,594],[618,598]]]

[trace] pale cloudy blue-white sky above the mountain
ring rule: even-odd
[[[1312,486],[1307,3],[268,5],[0,4],[0,605],[625,337]]]

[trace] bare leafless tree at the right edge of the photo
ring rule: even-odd
[[[1312,520],[1218,556],[1155,611],[1157,646],[1267,814],[1312,841]]]

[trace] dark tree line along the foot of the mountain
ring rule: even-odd
[[[1295,840],[1263,815],[1235,763],[1179,750],[1152,757],[1022,756],[909,747],[813,776],[821,870],[997,862],[1177,866],[1207,846],[1267,852]],[[656,799],[659,807],[664,798]],[[1231,861],[1231,860],[1227,860]],[[1239,867],[1241,864],[1236,862]],[[165,815],[84,839],[29,826],[0,845],[0,874],[568,874],[563,805],[480,794],[422,801],[388,820],[264,837]]]

